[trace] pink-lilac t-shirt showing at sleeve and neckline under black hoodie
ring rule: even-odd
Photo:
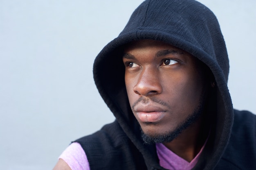
[[[162,143],[156,144],[160,166],[169,170],[191,170],[198,162],[203,148],[204,146],[197,156],[191,162],[188,162],[166,148]],[[71,143],[59,159],[63,159],[72,170],[90,170],[86,154],[79,143]]]

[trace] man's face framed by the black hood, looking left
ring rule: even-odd
[[[123,62],[130,107],[144,134],[172,135],[199,114],[204,83],[191,54],[164,42],[140,40],[126,46]]]

